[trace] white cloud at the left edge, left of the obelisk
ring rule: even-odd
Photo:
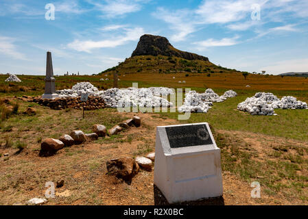
[[[27,60],[23,53],[16,51],[14,42],[14,38],[0,36],[0,53],[13,57],[16,60]]]

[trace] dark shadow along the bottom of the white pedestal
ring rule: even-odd
[[[183,203],[168,203],[167,199],[154,185],[154,205],[224,205],[224,198],[222,196],[217,198],[204,198],[198,201],[185,201]]]

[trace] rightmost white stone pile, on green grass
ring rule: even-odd
[[[307,103],[298,101],[294,96],[283,96],[279,99],[272,93],[258,92],[246,101],[237,105],[237,110],[249,112],[251,115],[276,115],[274,109],[307,109]]]

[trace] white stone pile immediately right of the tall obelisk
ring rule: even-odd
[[[90,96],[99,96],[102,93],[90,82],[80,82],[71,89],[57,90],[60,98],[78,97],[82,92],[87,92]]]

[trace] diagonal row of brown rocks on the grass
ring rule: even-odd
[[[99,137],[116,135],[120,131],[128,129],[132,126],[140,127],[141,118],[134,116],[132,119],[125,120],[118,125],[115,125],[108,131],[104,125],[95,124],[92,127],[93,133],[84,133],[81,130],[71,131],[69,135],[64,134],[59,139],[45,138],[40,144],[40,157],[49,157],[55,155],[57,151],[64,146],[73,146],[74,144],[83,144],[86,141],[97,140]]]

